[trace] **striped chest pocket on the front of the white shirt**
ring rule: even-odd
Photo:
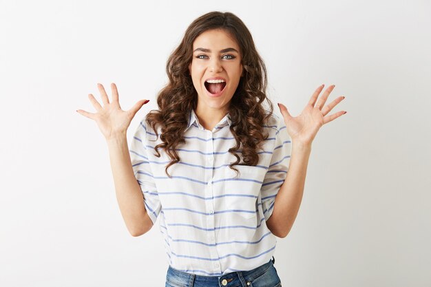
[[[235,165],[224,169],[224,208],[232,217],[251,219],[257,215],[257,198],[266,169]]]

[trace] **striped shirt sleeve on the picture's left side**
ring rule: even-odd
[[[158,198],[156,182],[154,181],[154,176],[151,172],[151,164],[147,155],[147,152],[154,149],[151,149],[151,146],[147,146],[146,138],[147,127],[145,126],[145,119],[143,119],[134,132],[129,147],[129,154],[135,178],[143,193],[145,209],[147,209],[151,222],[155,224],[162,205]]]

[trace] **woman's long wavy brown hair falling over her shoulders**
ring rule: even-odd
[[[237,158],[229,167],[238,175],[238,169],[233,168],[233,165],[240,163],[240,156],[236,154],[240,147],[244,161],[241,165],[255,166],[259,161],[257,149],[260,149],[263,141],[268,138],[262,126],[266,125],[273,113],[273,104],[266,97],[266,67],[257,53],[249,29],[231,12],[214,11],[204,14],[189,25],[180,45],[169,56],[166,64],[169,82],[158,93],[159,109],[149,111],[146,116],[146,122],[151,125],[157,137],[156,125],[161,126],[162,143],[154,147],[157,153],[154,155],[160,158],[158,149],[162,148],[171,159],[165,168],[169,178],[171,176],[167,169],[180,162],[176,147],[185,144],[183,134],[187,128],[189,112],[196,109],[198,104],[198,93],[188,68],[193,58],[193,42],[202,32],[213,29],[222,29],[233,36],[240,47],[244,67],[243,76],[229,104],[228,112],[232,121],[230,130],[236,141],[235,147],[231,147],[229,153]],[[263,107],[264,100],[268,102],[268,109]]]

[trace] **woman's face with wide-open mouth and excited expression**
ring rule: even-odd
[[[227,109],[242,74],[240,47],[224,30],[202,32],[193,42],[189,71],[198,105]]]

